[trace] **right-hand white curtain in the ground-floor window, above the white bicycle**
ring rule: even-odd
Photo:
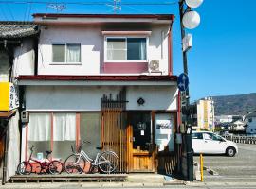
[[[76,140],[76,113],[53,114],[53,141]]]

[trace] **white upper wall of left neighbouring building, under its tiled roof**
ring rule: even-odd
[[[22,45],[14,49],[13,77],[34,75],[35,51],[33,40],[23,40]]]

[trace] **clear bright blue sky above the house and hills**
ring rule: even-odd
[[[46,4],[35,2],[109,2],[108,6],[66,4],[62,13],[114,13],[113,0],[0,0],[0,20],[31,20],[32,13],[57,13]],[[122,0],[124,3],[174,2],[168,6],[121,5],[118,13],[172,13],[174,22],[174,74],[183,72],[178,0]],[[1,3],[4,2],[4,3]],[[13,2],[16,2],[13,4]],[[18,3],[20,2],[20,3]],[[32,4],[23,4],[33,2]],[[176,3],[175,3],[176,2]],[[48,5],[48,4],[47,4]],[[256,92],[256,25],[255,0],[204,0],[194,9],[201,24],[192,33],[192,49],[188,53],[191,99],[205,96],[247,94]]]

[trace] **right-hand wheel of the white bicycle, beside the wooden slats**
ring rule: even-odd
[[[113,173],[118,166],[118,155],[113,151],[101,153],[98,160],[98,166],[103,173]]]

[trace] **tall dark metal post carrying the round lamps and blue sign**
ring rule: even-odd
[[[179,1],[179,16],[180,16],[180,30],[181,30],[181,40],[185,37],[185,28],[182,24],[182,18],[184,15],[184,0]],[[183,57],[183,69],[184,73],[188,76],[188,60],[187,60],[187,52],[182,50],[182,57]],[[191,125],[189,122],[189,106],[190,106],[190,93],[189,87],[184,92],[185,93],[185,100],[186,100],[186,107],[185,107],[185,128],[186,128],[186,149],[187,149],[187,180],[193,180],[193,152],[192,152],[192,133],[191,133]],[[184,113],[184,112],[183,112]],[[188,130],[190,130],[188,132]]]

